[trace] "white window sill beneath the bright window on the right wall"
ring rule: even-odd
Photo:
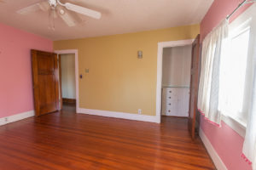
[[[246,124],[230,116],[222,115],[221,118],[223,122],[229,125],[233,130],[235,130],[236,133],[238,133],[242,138],[245,137],[246,129],[247,129]]]

